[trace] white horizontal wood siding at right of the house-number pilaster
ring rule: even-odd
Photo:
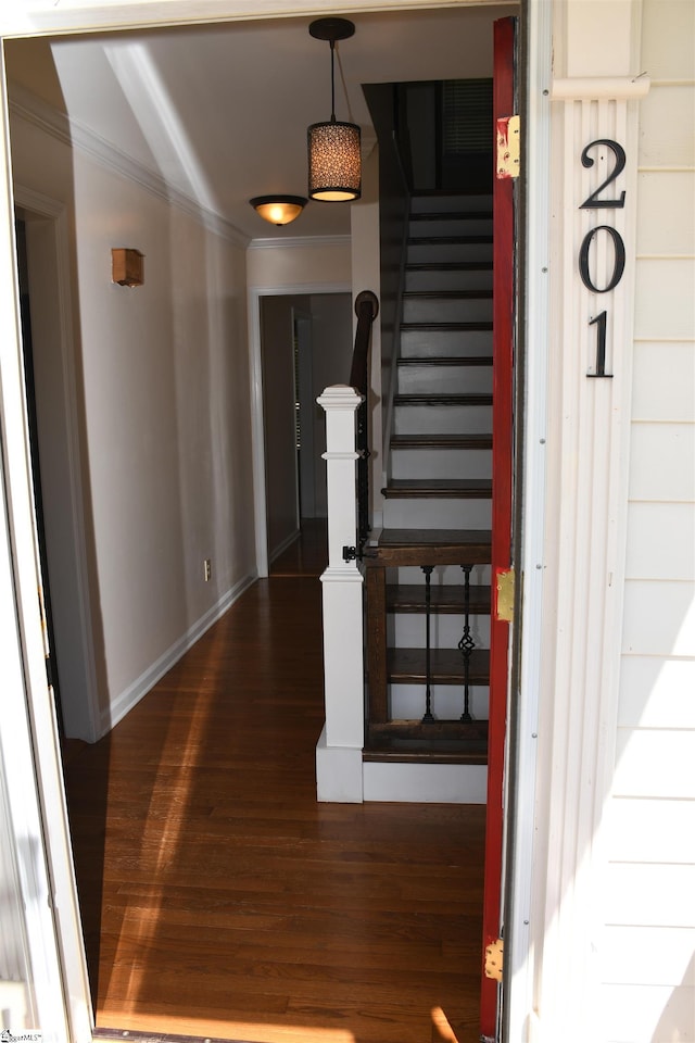
[[[610,1043],[695,1040],[695,4],[644,0],[634,382],[601,978]]]

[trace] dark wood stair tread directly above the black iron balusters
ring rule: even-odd
[[[364,552],[366,565],[486,565],[490,529],[383,529]]]

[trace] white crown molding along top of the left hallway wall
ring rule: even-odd
[[[143,188],[151,196],[193,217],[208,231],[222,236],[238,247],[245,248],[249,244],[249,237],[222,214],[201,206],[192,197],[169,185],[161,174],[146,166],[144,163],[134,160],[131,155],[102,138],[90,127],[77,120],[71,120],[66,113],[49,105],[18,84],[10,84],[9,96],[11,115],[37,127],[63,144],[89,155],[104,168],[116,171],[122,177]]]

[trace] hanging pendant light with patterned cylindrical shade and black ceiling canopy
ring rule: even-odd
[[[308,143],[308,194],[311,199],[337,202],[359,199],[362,156],[359,127],[336,120],[336,41],[354,35],[346,18],[318,18],[308,27],[317,40],[330,42],[330,121],[313,123],[306,131]]]

